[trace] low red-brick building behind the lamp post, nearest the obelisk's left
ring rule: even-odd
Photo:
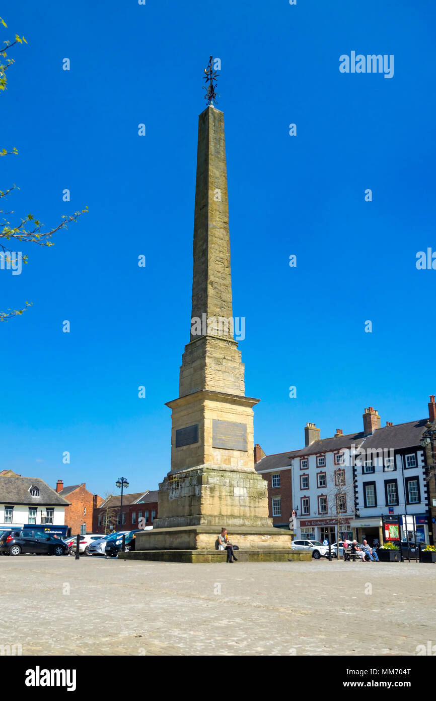
[[[136,494],[108,496],[99,508],[94,510],[93,533],[110,531],[132,531],[139,529],[140,519],[145,526],[152,526],[157,518],[157,490],[147,489]]]

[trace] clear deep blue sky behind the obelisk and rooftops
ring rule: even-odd
[[[0,147],[19,151],[2,161],[0,189],[20,186],[8,209],[55,226],[89,207],[54,247],[23,247],[21,275],[0,271],[2,310],[33,302],[0,327],[1,468],[99,494],[169,470],[210,54],[255,442],[297,449],[307,421],[360,430],[368,405],[383,425],[426,416],[436,271],[415,262],[436,250],[435,4],[3,0],[1,16],[1,41],[28,41],[0,95]],[[341,74],[351,50],[393,54],[393,79]]]

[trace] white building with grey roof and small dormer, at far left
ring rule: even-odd
[[[0,529],[34,525],[64,526],[70,502],[39,477],[0,473]],[[51,528],[50,528],[51,529]]]

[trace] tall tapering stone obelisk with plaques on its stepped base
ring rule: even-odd
[[[167,403],[171,470],[153,531],[137,534],[136,551],[155,551],[152,559],[181,559],[183,551],[188,562],[211,562],[225,526],[241,553],[286,559],[290,533],[272,526],[267,482],[254,468],[259,400],[245,396],[234,340],[224,115],[212,104],[199,115],[193,257],[190,342],[179,396]]]

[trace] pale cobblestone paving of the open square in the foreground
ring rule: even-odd
[[[0,645],[23,655],[415,655],[436,566],[0,557]]]

